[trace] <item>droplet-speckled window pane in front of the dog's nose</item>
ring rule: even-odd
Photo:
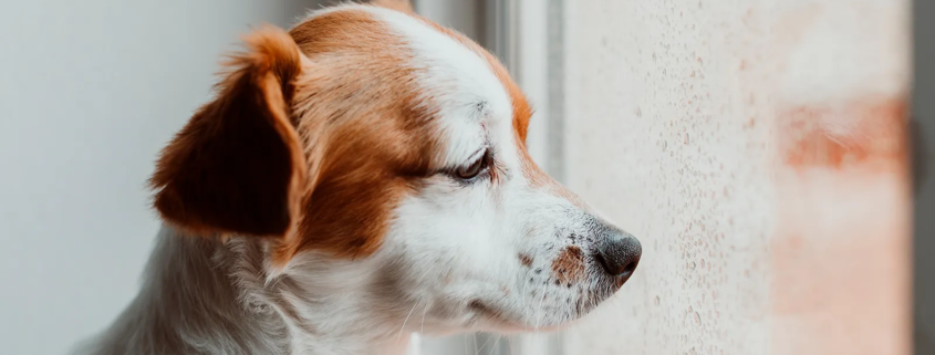
[[[565,353],[908,354],[908,3],[568,11],[568,181],[644,255]]]

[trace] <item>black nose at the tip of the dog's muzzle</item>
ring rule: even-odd
[[[621,279],[623,283],[636,270],[642,254],[643,247],[636,238],[621,230],[609,230],[598,243],[594,258],[607,273]]]

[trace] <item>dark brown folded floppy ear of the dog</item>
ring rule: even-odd
[[[305,160],[290,119],[301,53],[284,31],[247,35],[217,98],[163,150],[150,182],[165,220],[196,233],[283,236],[295,222]]]

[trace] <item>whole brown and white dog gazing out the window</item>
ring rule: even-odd
[[[262,28],[165,148],[139,295],[86,354],[401,354],[408,334],[555,328],[635,238],[526,149],[498,61],[411,12]]]

